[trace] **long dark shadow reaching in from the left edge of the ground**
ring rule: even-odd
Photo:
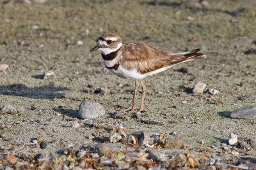
[[[0,94],[8,96],[23,96],[32,99],[62,98],[65,97],[65,93],[60,91],[64,90],[69,89],[66,87],[56,87],[52,83],[40,87],[27,87],[22,83],[0,86]]]

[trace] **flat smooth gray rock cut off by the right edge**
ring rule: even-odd
[[[245,106],[243,108],[237,108],[231,111],[230,117],[232,118],[256,118],[256,107],[255,106]]]

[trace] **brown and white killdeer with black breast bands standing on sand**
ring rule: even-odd
[[[137,112],[143,110],[146,87],[143,78],[160,73],[175,64],[197,59],[205,59],[206,55],[198,53],[200,49],[189,52],[172,53],[141,43],[122,43],[122,38],[114,33],[102,34],[90,52],[101,50],[104,65],[121,78],[135,81],[132,102],[128,108],[120,111]],[[138,92],[139,80],[142,87],[140,109],[134,110],[134,99]]]

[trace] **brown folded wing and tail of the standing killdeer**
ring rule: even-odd
[[[172,66],[179,62],[193,60],[193,57],[202,56],[202,53],[197,53],[198,51],[196,49],[186,53],[171,53],[158,50],[150,45],[123,43],[121,62],[125,69],[138,69],[140,73],[145,74],[161,67]]]

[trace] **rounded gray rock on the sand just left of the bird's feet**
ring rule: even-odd
[[[79,118],[93,119],[103,115],[105,115],[104,107],[101,104],[96,103],[95,101],[83,101],[79,105]]]

